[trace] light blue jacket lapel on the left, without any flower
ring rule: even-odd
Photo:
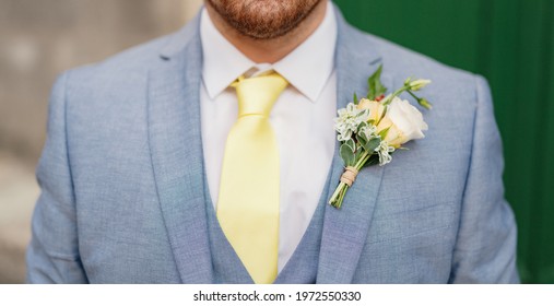
[[[161,210],[184,283],[211,283],[200,133],[199,17],[176,34],[149,74],[149,136]]]

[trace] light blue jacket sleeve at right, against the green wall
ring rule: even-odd
[[[517,229],[504,198],[503,148],[488,84],[476,78],[471,163],[453,250],[451,283],[518,283]]]

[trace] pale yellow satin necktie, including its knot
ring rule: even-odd
[[[269,115],[287,84],[273,73],[232,85],[238,119],[225,145],[217,220],[257,284],[272,283],[278,274],[279,150]]]

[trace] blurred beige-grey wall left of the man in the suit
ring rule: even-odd
[[[201,0],[0,0],[0,283],[24,280],[33,169],[61,71],[182,26]]]

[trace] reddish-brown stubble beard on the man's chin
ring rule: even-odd
[[[273,39],[295,30],[325,0],[207,0],[225,22],[254,39]]]

